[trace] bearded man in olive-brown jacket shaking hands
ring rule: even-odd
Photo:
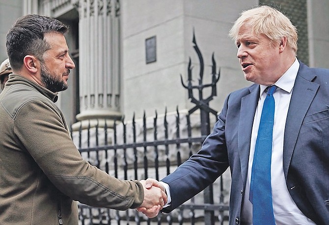
[[[165,193],[145,189],[144,180],[119,180],[90,165],[72,142],[54,103],[75,68],[67,29],[53,18],[27,15],[7,33],[13,74],[0,94],[1,225],[78,225],[76,201],[150,211],[166,202]]]

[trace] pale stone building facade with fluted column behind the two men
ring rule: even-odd
[[[79,129],[112,127],[123,118],[129,123],[133,115],[138,121],[144,115],[152,120],[155,111],[158,117],[177,109],[187,114],[193,104],[181,79],[188,80],[191,60],[192,81],[198,82],[194,35],[204,82],[212,79],[213,54],[220,69],[217,97],[210,102],[220,111],[231,91],[250,85],[229,29],[241,11],[259,4],[281,9],[297,25],[299,59],[329,68],[328,0],[0,0],[0,60],[7,57],[6,32],[22,15],[51,16],[70,26],[67,42],[76,69],[56,103],[75,137]],[[96,144],[85,138],[77,145]]]

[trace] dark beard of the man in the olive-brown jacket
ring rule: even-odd
[[[63,75],[70,73],[67,70]],[[51,73],[44,63],[41,63],[41,79],[45,84],[45,87],[52,92],[64,91],[68,88],[68,84],[64,82],[61,78],[58,78],[54,73]]]

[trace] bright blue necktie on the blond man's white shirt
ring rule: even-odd
[[[268,88],[260,118],[255,153],[252,163],[250,195],[253,225],[275,225],[272,188],[271,158],[276,86]]]

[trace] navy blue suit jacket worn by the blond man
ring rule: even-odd
[[[251,128],[259,85],[231,93],[201,150],[162,181],[169,184],[170,212],[214,182],[228,167],[232,183],[229,224],[241,223]],[[300,62],[287,115],[283,170],[287,189],[305,216],[329,224],[329,70]]]

